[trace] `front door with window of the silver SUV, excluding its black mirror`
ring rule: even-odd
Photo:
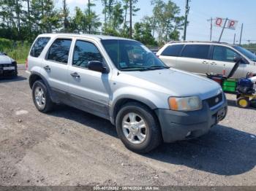
[[[67,74],[71,101],[79,109],[108,118],[110,74],[89,70],[89,61],[105,63],[93,42],[78,39]]]

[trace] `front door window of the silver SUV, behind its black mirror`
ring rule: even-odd
[[[94,44],[78,40],[75,43],[72,66],[87,68],[89,61],[102,62],[103,58]]]

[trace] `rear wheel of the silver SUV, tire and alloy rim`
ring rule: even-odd
[[[36,98],[36,93],[39,93],[41,91],[43,93],[42,98]],[[36,82],[34,82],[32,87],[32,98],[34,101],[34,105],[37,107],[37,110],[39,112],[47,113],[53,109],[53,101],[51,101],[49,91],[45,86],[44,82],[42,82],[42,80],[37,80]]]

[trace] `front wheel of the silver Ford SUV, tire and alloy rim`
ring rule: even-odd
[[[132,126],[132,123],[137,125]],[[116,131],[124,146],[133,152],[150,152],[162,142],[159,123],[154,112],[137,102],[125,104],[119,110],[116,116]]]

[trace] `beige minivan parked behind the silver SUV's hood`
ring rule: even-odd
[[[256,55],[238,45],[219,42],[170,42],[165,44],[157,56],[175,69],[195,74],[229,74],[237,58],[241,65],[234,78],[246,77],[248,72],[256,74]]]

